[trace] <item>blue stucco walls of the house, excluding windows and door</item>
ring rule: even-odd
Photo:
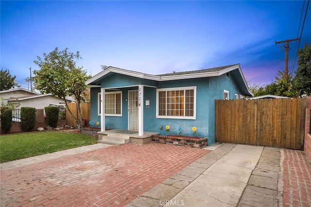
[[[181,127],[181,135],[193,136],[191,128],[195,126],[195,136],[207,137],[208,144],[215,142],[215,100],[224,98],[224,90],[229,91],[229,99],[234,99],[235,94],[239,95],[241,90],[235,83],[233,75],[229,73],[216,77],[205,77],[196,79],[183,79],[172,81],[155,82],[143,80],[122,74],[110,74],[102,79],[103,88],[114,88],[122,91],[122,116],[106,116],[105,122],[110,129],[128,128],[128,103],[126,102],[128,90],[138,89],[137,85],[145,85],[143,95],[143,119],[144,131],[158,132],[160,135],[167,135],[165,126],[170,126],[170,135],[178,135],[178,127]],[[135,87],[127,87],[135,86]],[[196,86],[196,119],[166,119],[156,118],[156,88],[175,88]],[[100,121],[98,116],[98,92],[100,88],[91,88],[91,121]],[[244,95],[244,94],[242,94]],[[150,106],[145,107],[145,101],[150,100]]]

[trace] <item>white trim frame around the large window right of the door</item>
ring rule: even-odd
[[[193,89],[193,117],[186,117],[186,116],[160,116],[159,115],[159,91],[191,90],[191,89]],[[196,86],[170,87],[170,88],[158,88],[158,89],[156,89],[156,118],[157,119],[196,120]]]

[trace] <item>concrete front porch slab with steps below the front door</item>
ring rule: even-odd
[[[112,129],[105,132],[97,132],[97,143],[121,145],[127,143],[147,144],[151,142],[153,135],[158,135],[157,132],[143,132],[142,136],[139,136],[138,131],[124,130],[124,129]]]

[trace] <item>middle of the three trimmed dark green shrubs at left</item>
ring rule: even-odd
[[[33,107],[21,107],[20,108],[20,121],[21,127],[30,132],[35,127],[35,108]]]

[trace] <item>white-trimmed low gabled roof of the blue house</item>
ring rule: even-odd
[[[172,81],[172,80],[182,80],[182,79],[191,79],[191,78],[203,78],[203,77],[215,77],[223,75],[227,72],[231,72],[233,78],[235,79],[237,85],[241,88],[242,92],[245,95],[253,96],[253,93],[249,90],[242,70],[240,68],[240,64],[235,65],[228,65],[222,66],[217,68],[210,68],[210,69],[199,69],[199,70],[191,70],[191,71],[184,71],[184,72],[173,72],[173,73],[166,73],[160,75],[150,75],[142,72],[120,69],[109,66],[107,69],[99,72],[98,74],[94,75],[92,78],[86,81],[86,85],[93,85],[93,86],[100,86],[101,79],[105,75],[109,73],[119,73],[123,75],[128,75],[132,77],[154,80],[154,81]]]

